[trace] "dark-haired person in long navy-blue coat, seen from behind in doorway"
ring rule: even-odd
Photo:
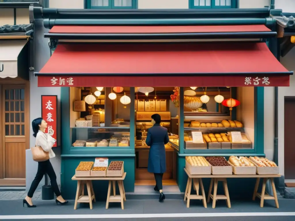
[[[148,171],[154,173],[156,186],[155,191],[160,192],[159,201],[163,202],[165,195],[163,193],[163,173],[166,171],[166,151],[165,144],[169,142],[168,130],[160,126],[161,116],[157,113],[152,115],[153,126],[148,129],[148,135],[145,143],[150,146],[148,155]]]

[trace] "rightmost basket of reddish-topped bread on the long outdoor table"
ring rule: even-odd
[[[249,160],[256,166],[257,174],[278,174],[279,167],[275,162],[258,156],[250,156]]]

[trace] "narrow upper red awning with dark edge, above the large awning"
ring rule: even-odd
[[[187,25],[187,26],[64,26],[55,25],[45,34],[54,39],[224,39],[274,37],[263,24],[257,25]]]

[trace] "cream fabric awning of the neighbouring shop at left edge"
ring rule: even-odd
[[[28,77],[27,40],[0,40],[0,77]]]

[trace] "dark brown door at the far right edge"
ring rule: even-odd
[[[293,160],[295,147],[293,141],[293,126],[295,123],[295,97],[285,97],[284,105],[284,168],[287,186],[295,187],[295,162]]]

